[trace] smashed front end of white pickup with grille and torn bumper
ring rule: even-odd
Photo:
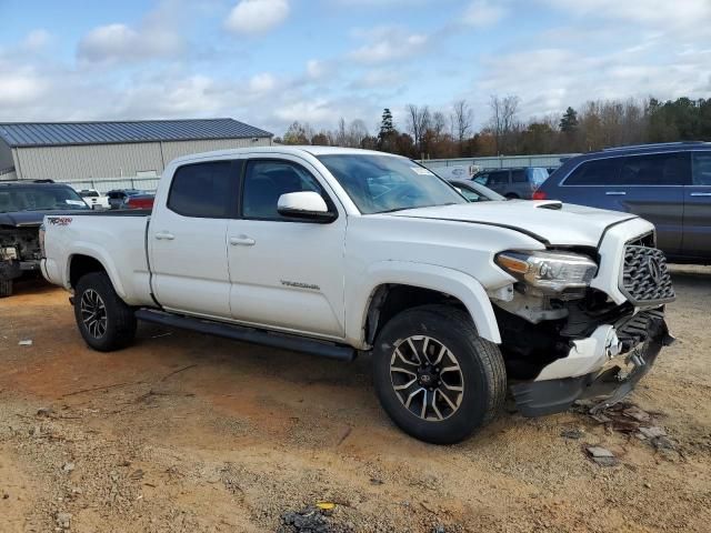
[[[521,414],[565,411],[581,398],[601,396],[597,409],[612,405],[632,391],[661,348],[673,342],[663,306],[673,301],[673,289],[653,235],[649,242],[628,242],[623,252],[619,289],[628,299],[622,303],[591,288],[598,271],[593,250],[547,251],[534,259],[504,252],[497,258],[518,280],[507,298],[493,301]],[[562,264],[541,268],[541,257]],[[553,280],[541,283],[547,271]]]

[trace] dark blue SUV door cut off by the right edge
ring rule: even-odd
[[[682,254],[711,258],[711,151],[691,152],[692,181],[684,187]]]

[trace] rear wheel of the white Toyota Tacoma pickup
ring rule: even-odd
[[[100,352],[126,348],[136,336],[133,310],[119,298],[103,272],[86,274],[77,283],[74,318],[87,344]]]

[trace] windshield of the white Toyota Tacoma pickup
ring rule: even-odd
[[[336,154],[318,159],[363,214],[467,203],[440,178],[404,158]]]

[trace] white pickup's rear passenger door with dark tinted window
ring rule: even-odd
[[[166,208],[150,220],[151,286],[176,312],[229,319],[227,228],[237,213],[239,163],[212,161],[176,170]]]

